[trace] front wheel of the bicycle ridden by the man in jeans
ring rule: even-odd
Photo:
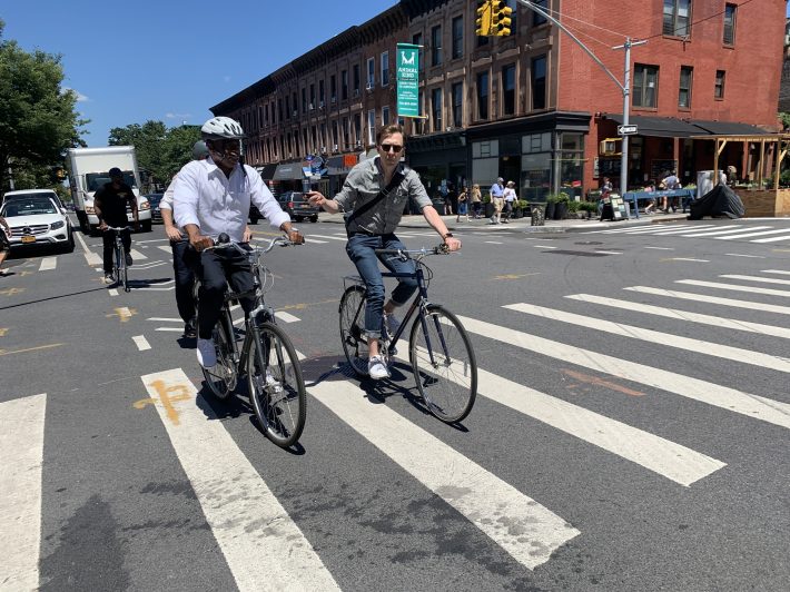
[[[470,414],[477,396],[477,362],[466,329],[453,313],[429,305],[424,317],[418,315],[412,325],[408,357],[431,413],[448,424]]]

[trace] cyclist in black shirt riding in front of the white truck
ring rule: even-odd
[[[140,217],[137,211],[137,198],[135,193],[127,184],[124,182],[124,174],[118,167],[110,169],[110,182],[96,191],[93,196],[93,208],[96,216],[99,218],[99,230],[103,233],[102,241],[105,246],[105,283],[112,284],[112,246],[116,239],[116,231],[109,230],[109,226],[117,228],[127,226],[126,208],[129,206],[135,216],[135,229],[140,229]],[[126,253],[126,265],[131,266],[131,235],[129,230],[121,231],[121,240],[124,243],[124,251]]]

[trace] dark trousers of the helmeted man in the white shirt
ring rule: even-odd
[[[235,250],[203,251],[196,272],[200,279],[198,337],[209,339],[219,318],[223,302],[225,302],[228,282],[235,293],[249,292],[255,283],[247,257]],[[253,296],[244,297],[239,304],[246,315],[253,309],[255,298]]]

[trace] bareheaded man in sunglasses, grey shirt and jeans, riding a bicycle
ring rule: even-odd
[[[418,175],[401,161],[404,141],[405,135],[401,126],[384,126],[376,134],[378,156],[356,165],[334,199],[327,199],[318,191],[308,194],[310,204],[320,206],[330,214],[349,213],[346,253],[367,286],[365,334],[371,353],[367,369],[371,378],[375,381],[389,376],[389,369],[379,355],[378,339],[383,322],[387,323],[391,334],[397,329],[398,322],[393,313],[395,308],[408,302],[417,289],[417,283],[411,278],[398,278],[398,285],[385,304],[384,278],[374,249],[406,248],[395,236],[395,229],[409,199],[417,204],[427,223],[438,233],[450,250],[461,248],[461,240],[447,231]],[[382,259],[382,263],[394,273],[415,270],[412,260]]]

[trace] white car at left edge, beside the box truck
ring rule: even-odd
[[[46,245],[58,250],[75,250],[71,220],[55,199],[41,194],[11,197],[0,208],[11,228],[11,249]]]

